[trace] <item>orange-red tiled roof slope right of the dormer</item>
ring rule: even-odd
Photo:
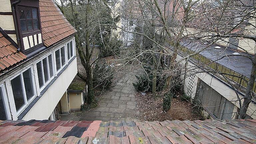
[[[52,0],[39,0],[39,9],[42,36],[46,46],[77,32]]]

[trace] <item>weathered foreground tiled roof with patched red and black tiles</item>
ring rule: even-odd
[[[256,120],[3,121],[0,143],[255,144]]]

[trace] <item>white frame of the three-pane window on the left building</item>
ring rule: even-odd
[[[53,70],[53,76],[50,77],[50,65],[49,65],[49,56],[52,55],[52,70]],[[48,69],[47,69],[47,72],[48,72],[48,76],[49,76],[49,80],[45,83],[45,79],[44,79],[44,67],[43,67],[43,59],[47,60],[47,65],[48,65]],[[52,79],[55,77],[55,64],[54,64],[54,55],[53,53],[50,53],[48,54],[46,57],[42,58],[41,60],[37,61],[36,62],[36,67],[37,67],[37,63],[41,62],[41,68],[42,68],[42,75],[43,75],[43,86],[40,88],[40,85],[39,86],[39,89],[40,89],[40,92],[52,81]],[[37,71],[37,79],[38,79],[38,71]],[[38,79],[38,84],[39,84],[39,79]]]

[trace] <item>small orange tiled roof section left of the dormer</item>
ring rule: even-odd
[[[17,48],[0,32],[0,72],[26,58],[27,56],[17,52]]]

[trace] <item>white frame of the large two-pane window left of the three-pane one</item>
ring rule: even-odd
[[[24,95],[24,102],[25,102],[25,105],[22,106],[18,111],[16,109],[16,106],[15,106],[15,109],[16,109],[16,112],[17,112],[17,116],[19,116],[23,111],[24,109],[35,99],[35,97],[37,96],[37,92],[36,92],[36,84],[35,84],[35,77],[33,76],[34,74],[32,73],[32,85],[33,85],[33,90],[34,90],[34,96],[30,98],[30,100],[28,101],[27,100],[27,95],[26,95],[26,92],[25,92],[25,84],[24,84],[24,79],[23,79],[23,72],[25,72],[26,70],[30,69],[31,70],[31,73],[34,71],[33,69],[33,65],[31,65],[30,67],[26,68],[25,70],[22,70],[19,74],[15,75],[14,77],[12,77],[10,79],[10,83],[11,83],[11,80],[13,80],[14,78],[16,78],[17,76],[21,75],[21,85],[22,85],[22,92],[23,92],[23,95]],[[11,85],[12,86],[12,85]],[[14,96],[13,96],[14,98]],[[15,105],[15,102],[14,102],[14,105]]]

